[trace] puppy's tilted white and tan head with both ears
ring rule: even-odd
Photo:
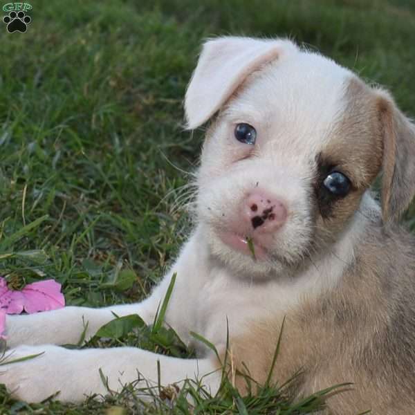
[[[383,221],[414,196],[415,130],[389,94],[288,40],[205,43],[185,111],[190,129],[217,114],[196,216],[237,272],[288,272],[324,255],[380,171]]]

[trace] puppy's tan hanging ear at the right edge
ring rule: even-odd
[[[398,219],[415,196],[415,125],[378,90],[383,137],[382,216]]]

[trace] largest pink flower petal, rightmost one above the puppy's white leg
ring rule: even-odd
[[[21,293],[24,295],[24,309],[27,313],[55,310],[65,306],[61,285],[53,279],[28,284]]]

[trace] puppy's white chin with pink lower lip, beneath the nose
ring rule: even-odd
[[[268,279],[286,274],[288,268],[283,261],[264,248],[250,248],[242,237],[224,234],[210,225],[204,225],[204,234],[212,255],[229,270],[241,278]]]

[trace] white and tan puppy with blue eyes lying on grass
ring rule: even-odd
[[[64,401],[138,378],[214,393],[228,354],[243,392],[301,369],[297,396],[342,382],[331,414],[415,412],[415,241],[398,219],[415,194],[415,128],[391,95],[284,39],[206,42],[185,97],[187,127],[208,120],[197,172],[195,226],[176,263],[140,304],[66,307],[9,316],[0,381],[17,398]],[[370,187],[382,172],[380,205]],[[197,359],[136,348],[68,350],[116,315],[152,322],[173,273],[167,324]],[[229,343],[227,347],[227,329]],[[142,380],[138,385],[147,385]]]

